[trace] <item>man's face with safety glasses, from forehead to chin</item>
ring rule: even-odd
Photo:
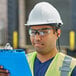
[[[39,53],[48,53],[56,47],[57,33],[51,26],[32,26],[29,30],[32,45]]]

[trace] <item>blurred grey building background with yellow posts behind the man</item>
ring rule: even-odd
[[[10,43],[27,53],[34,50],[24,24],[33,6],[41,1],[51,3],[60,12],[64,23],[59,39],[61,52],[76,57],[76,0],[0,0],[0,48]]]

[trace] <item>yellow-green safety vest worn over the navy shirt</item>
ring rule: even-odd
[[[28,54],[28,62],[32,76],[34,76],[34,60],[36,58],[36,55],[36,52]],[[57,53],[49,65],[45,76],[71,76],[71,72],[75,66],[76,59],[62,53]]]

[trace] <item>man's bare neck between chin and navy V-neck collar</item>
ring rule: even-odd
[[[54,48],[50,52],[48,52],[46,54],[37,53],[37,58],[42,63],[44,63],[44,62],[48,61],[49,59],[53,58],[54,56],[56,56],[57,53],[58,53],[57,49]]]

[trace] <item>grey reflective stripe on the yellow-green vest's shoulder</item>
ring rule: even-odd
[[[62,67],[60,67],[60,71],[61,71],[60,76],[68,76],[69,72],[71,71],[70,68],[71,61],[72,61],[71,57],[65,56]]]

